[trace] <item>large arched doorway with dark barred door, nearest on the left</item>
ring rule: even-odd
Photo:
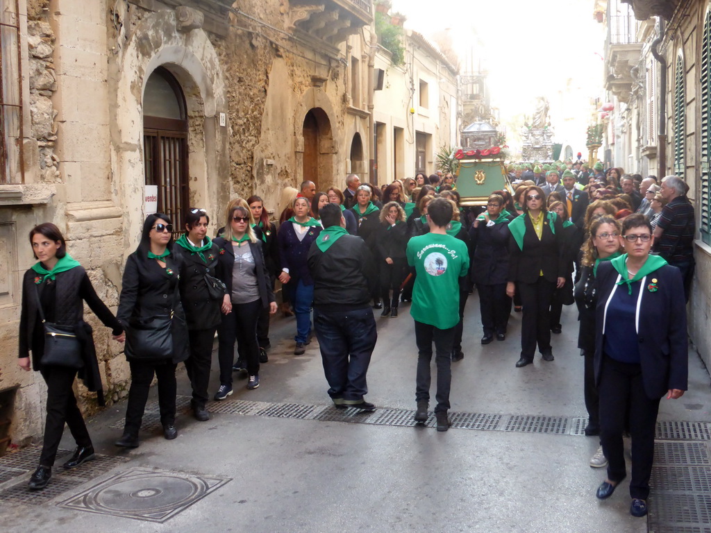
[[[178,233],[189,198],[188,117],[180,84],[166,68],[148,78],[143,113],[146,185],[157,186],[158,211],[171,217]]]

